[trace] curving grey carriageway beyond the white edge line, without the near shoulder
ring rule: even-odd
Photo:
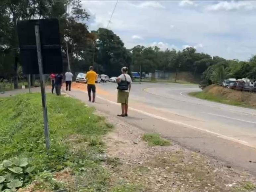
[[[101,84],[108,92],[115,92],[115,85]],[[220,137],[241,142],[256,148],[256,110],[219,104],[193,98],[188,92],[201,91],[197,85],[176,83],[133,84],[132,103],[143,103],[164,114],[176,116],[177,123],[211,132]],[[143,108],[140,108],[144,111]],[[163,115],[161,115],[163,117]]]

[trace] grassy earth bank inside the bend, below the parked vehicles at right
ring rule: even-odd
[[[232,90],[218,85],[210,85],[201,92],[192,92],[189,95],[199,99],[256,109],[255,93]]]

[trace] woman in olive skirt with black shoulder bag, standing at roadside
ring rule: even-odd
[[[130,75],[127,74],[127,67],[123,67],[121,71],[122,74],[119,77],[117,77],[116,81],[118,83],[117,103],[121,103],[122,114],[117,116],[128,117],[128,100],[132,81]]]

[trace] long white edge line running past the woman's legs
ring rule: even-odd
[[[86,91],[83,91],[83,92],[87,93]],[[104,101],[107,101],[109,103],[112,103],[112,104],[115,104],[115,105],[120,105],[120,104],[118,104],[118,103],[116,103],[114,101],[111,101],[111,100],[108,100],[108,99],[105,99],[105,98],[102,98],[102,97],[99,97],[99,96],[96,96],[96,97],[99,98],[99,99],[102,99]],[[180,121],[170,120],[170,119],[167,119],[167,118],[164,118],[164,117],[153,115],[153,114],[150,114],[150,113],[138,110],[138,109],[134,109],[132,107],[129,107],[129,110],[136,111],[136,112],[139,112],[141,114],[144,114],[144,115],[147,115],[147,116],[159,119],[159,120],[164,120],[166,122],[171,122],[171,123],[183,125],[183,126],[186,126],[186,127],[191,127],[191,128],[194,128],[194,129],[198,129],[198,130],[201,130],[201,131],[204,131],[204,132],[207,132],[207,133],[211,133],[211,134],[214,134],[214,135],[216,135],[218,137],[221,137],[221,138],[224,138],[224,139],[228,139],[228,140],[231,140],[231,141],[235,141],[235,142],[242,143],[242,144],[248,144],[248,142],[246,142],[246,141],[235,139],[235,138],[232,138],[232,137],[229,137],[229,136],[226,136],[226,135],[222,135],[220,133],[216,133],[216,132],[213,132],[213,131],[202,129],[202,128],[199,128],[199,127],[196,127],[196,126],[193,126],[193,125],[189,125],[189,124],[186,124],[186,123],[183,123],[183,122],[180,122]]]

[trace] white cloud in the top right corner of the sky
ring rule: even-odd
[[[209,5],[207,7],[208,10],[218,11],[218,10],[251,10],[254,9],[255,6],[252,4],[251,1],[220,1],[217,4]]]

